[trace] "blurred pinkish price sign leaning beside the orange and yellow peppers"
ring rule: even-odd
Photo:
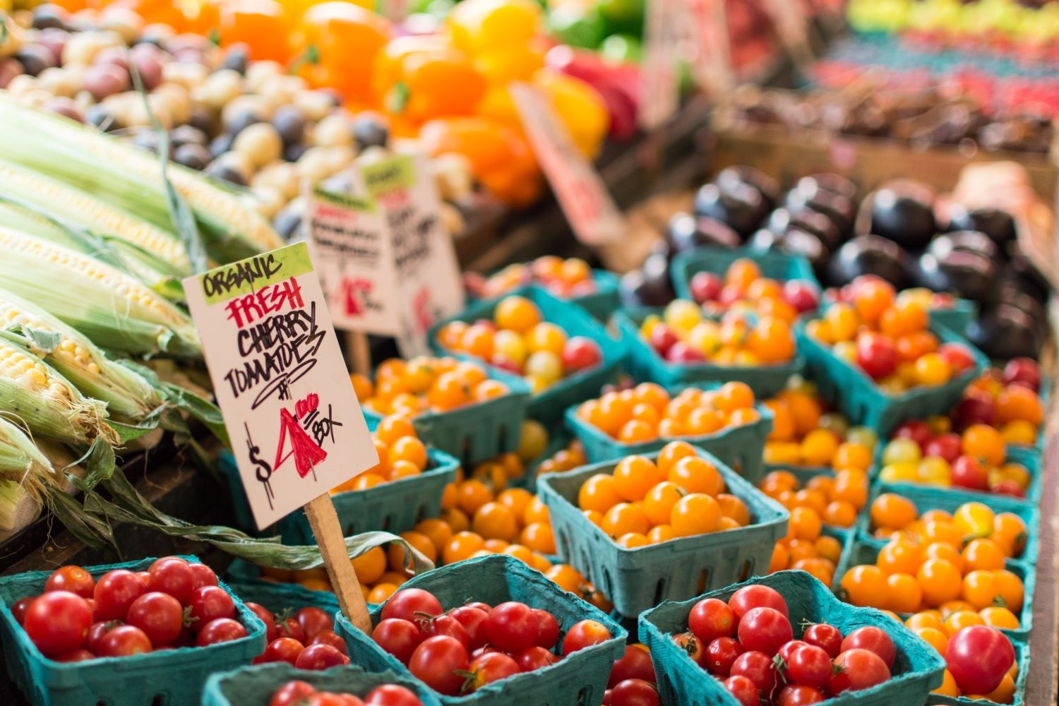
[[[534,155],[574,235],[587,246],[618,240],[625,231],[622,214],[599,175],[577,151],[548,97],[523,83],[513,83],[509,91]]]

